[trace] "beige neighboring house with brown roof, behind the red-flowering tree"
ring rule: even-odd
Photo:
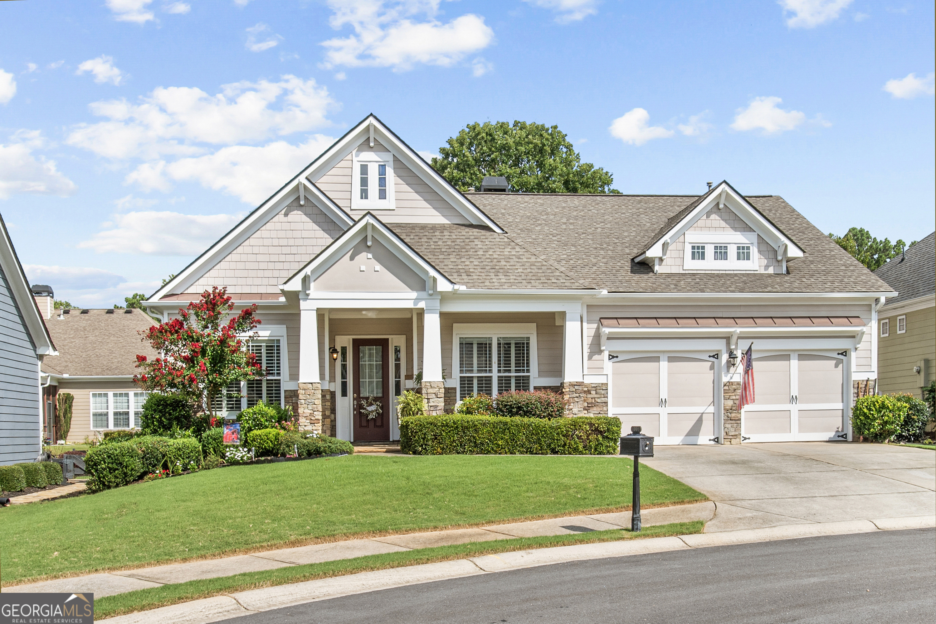
[[[58,348],[57,356],[42,362],[46,403],[55,409],[60,392],[75,398],[66,442],[99,438],[110,429],[139,428],[146,393],[134,384],[133,375],[138,354],[155,356],[139,334],[154,325],[153,319],[135,308],[53,310],[49,286],[33,286],[33,293]],[[45,435],[57,442],[61,433],[53,423],[54,418],[47,420]]]

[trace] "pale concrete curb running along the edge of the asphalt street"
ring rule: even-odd
[[[271,611],[306,602],[318,602],[367,593],[380,589],[400,588],[477,574],[506,572],[534,568],[554,563],[588,559],[628,557],[675,550],[690,550],[710,546],[773,542],[824,535],[870,533],[878,530],[929,529],[936,527],[936,515],[878,520],[849,520],[815,524],[784,525],[767,529],[744,529],[719,533],[696,533],[680,537],[654,537],[627,542],[604,542],[522,550],[500,555],[485,555],[474,559],[456,559],[440,563],[389,570],[348,574],[334,578],[304,581],[273,588],[250,589],[226,596],[215,596],[192,602],[182,602],[111,617],[111,624],[208,624],[231,617]]]

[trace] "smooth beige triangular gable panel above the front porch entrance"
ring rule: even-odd
[[[372,259],[368,259],[368,255]],[[426,290],[425,278],[379,240],[362,237],[347,254],[315,278],[316,291],[413,292]]]

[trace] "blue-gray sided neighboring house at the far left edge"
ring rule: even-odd
[[[0,465],[42,453],[39,363],[54,353],[0,216]]]

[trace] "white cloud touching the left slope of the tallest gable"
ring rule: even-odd
[[[202,186],[259,204],[293,173],[311,163],[334,142],[314,135],[300,145],[274,141],[261,147],[234,145],[217,152],[172,163],[144,163],[126,177],[143,190],[168,191],[172,181],[197,181]]]

